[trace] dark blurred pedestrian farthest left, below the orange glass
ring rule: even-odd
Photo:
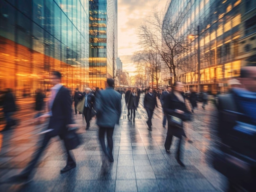
[[[4,91],[2,97],[2,105],[4,111],[4,117],[6,119],[6,126],[2,131],[9,130],[12,126],[17,124],[16,119],[13,119],[13,114],[17,110],[16,102],[11,88],[7,88]]]

